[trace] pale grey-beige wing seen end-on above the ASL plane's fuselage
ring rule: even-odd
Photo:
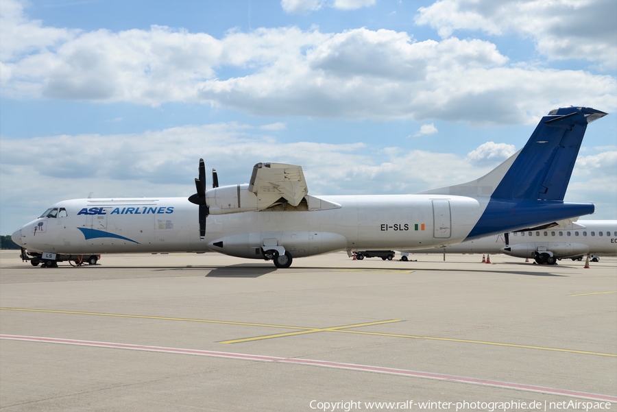
[[[292,206],[298,206],[309,193],[302,167],[285,163],[257,163],[253,167],[248,190],[257,195],[260,209],[281,197]]]

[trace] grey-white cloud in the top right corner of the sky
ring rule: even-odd
[[[415,23],[447,38],[461,29],[533,38],[551,59],[585,59],[617,68],[614,0],[439,0],[418,9]]]

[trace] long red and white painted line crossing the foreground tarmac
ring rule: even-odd
[[[394,375],[401,375],[401,376],[411,376],[413,378],[444,380],[447,382],[454,382],[454,383],[467,383],[470,385],[499,387],[499,388],[504,388],[504,389],[518,390],[518,391],[538,392],[538,393],[546,393],[548,395],[571,396],[573,398],[583,398],[583,399],[596,400],[596,401],[601,401],[601,402],[617,403],[617,396],[603,395],[600,393],[588,393],[588,392],[581,392],[581,391],[572,391],[570,389],[558,389],[558,388],[542,387],[542,386],[536,386],[536,385],[524,385],[522,383],[500,382],[499,380],[470,378],[466,376],[435,374],[432,372],[420,372],[420,371],[414,371],[410,369],[396,369],[393,367],[356,365],[354,363],[317,361],[315,359],[281,358],[278,356],[262,356],[262,355],[252,355],[252,354],[242,354],[242,353],[232,353],[232,352],[217,352],[213,350],[166,348],[163,346],[133,345],[131,343],[82,341],[82,340],[77,340],[77,339],[60,339],[60,338],[52,338],[52,337],[0,335],[0,339],[9,339],[9,340],[14,340],[14,341],[44,342],[44,343],[64,343],[66,345],[95,346],[98,348],[144,350],[147,352],[193,354],[193,355],[200,355],[200,356],[213,356],[217,358],[241,359],[245,361],[279,362],[279,363],[292,363],[295,365],[332,367],[335,369],[350,369],[350,370],[356,370],[356,371],[362,371],[362,372],[376,372],[379,374],[394,374]]]

